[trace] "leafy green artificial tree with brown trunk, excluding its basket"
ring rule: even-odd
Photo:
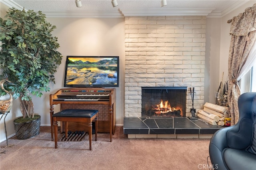
[[[1,79],[7,77],[15,84],[8,88],[14,98],[20,99],[23,118],[31,119],[31,95],[41,97],[43,91],[50,91],[50,82],[55,83],[54,73],[62,60],[57,51],[60,45],[51,34],[56,26],[48,23],[41,11],[11,8],[5,18],[0,18]]]

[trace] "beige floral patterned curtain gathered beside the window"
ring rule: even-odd
[[[239,118],[238,97],[241,94],[238,76],[242,74],[241,69],[256,42],[256,4],[232,18],[230,34],[232,37],[228,57],[228,105],[231,125],[234,125]]]

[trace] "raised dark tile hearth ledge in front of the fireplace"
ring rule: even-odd
[[[214,134],[223,128],[186,117],[125,117],[124,134]]]

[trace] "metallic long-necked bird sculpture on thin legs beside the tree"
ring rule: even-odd
[[[5,91],[8,95],[10,95],[10,99],[9,100],[0,100],[0,114],[2,115],[0,118],[0,121],[2,119],[2,117],[5,115],[4,117],[4,129],[5,129],[5,136],[6,136],[6,144],[8,146],[8,138],[7,138],[7,133],[6,133],[6,123],[5,123],[5,118],[7,116],[7,114],[10,112],[11,108],[12,108],[12,94],[7,91],[6,89],[4,89],[4,83],[8,83],[11,85],[14,85],[12,82],[8,81],[7,79],[3,79],[0,81],[0,87],[3,91]],[[1,152],[4,153],[4,152]]]

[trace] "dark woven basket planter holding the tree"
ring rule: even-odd
[[[36,116],[38,117],[37,119],[25,123],[16,123],[15,120],[13,121],[17,139],[32,138],[40,133],[41,116]]]

